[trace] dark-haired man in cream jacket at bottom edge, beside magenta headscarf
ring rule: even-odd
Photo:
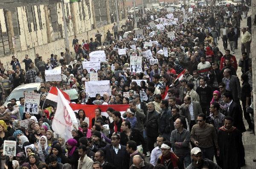
[[[86,146],[81,145],[78,147],[78,154],[80,156],[78,160],[78,169],[92,169],[93,160],[86,155],[86,152]]]

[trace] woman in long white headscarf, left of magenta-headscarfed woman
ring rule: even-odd
[[[46,136],[42,135],[40,137],[38,146],[35,146],[35,148],[37,149],[41,161],[45,163],[45,160],[49,155],[49,149],[51,148],[50,146],[48,146]]]

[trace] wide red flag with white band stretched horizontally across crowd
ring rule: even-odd
[[[122,114],[129,108],[129,104],[111,104],[111,105],[86,105],[86,104],[73,104],[70,103],[70,107],[74,112],[78,112],[78,110],[83,109],[86,117],[89,118],[90,124],[89,129],[92,127],[92,119],[95,117],[94,110],[96,108],[100,108],[102,110],[101,115],[108,117],[107,109],[108,107],[112,107],[114,110],[119,111]]]

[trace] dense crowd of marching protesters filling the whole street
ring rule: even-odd
[[[243,115],[249,125],[247,131],[254,133],[248,7],[244,3],[204,6],[193,8],[192,13],[188,8],[184,8],[185,19],[183,10],[172,11],[176,23],[165,25],[163,30],[154,25],[169,22],[163,19],[170,13],[166,8],[138,13],[141,18],[138,25],[144,36],[141,39],[134,39],[135,31],[125,36],[114,24],[113,34],[108,31],[104,45],[98,31],[90,42],[75,36],[75,55],[66,49],[60,59],[52,54],[46,62],[38,54],[34,62],[28,55],[20,61],[13,56],[12,70],[7,71],[1,63],[2,101],[19,85],[41,82],[40,90],[33,91],[41,94],[38,115],[23,113],[24,97],[19,98],[19,105],[17,98],[13,98],[7,107],[0,107],[1,169],[239,169],[244,166]],[[243,19],[249,20],[246,28],[240,27]],[[129,15],[122,28],[129,30],[133,25],[133,16]],[[155,34],[149,36],[152,31]],[[175,31],[173,38],[168,36],[171,31]],[[218,48],[220,39],[224,51]],[[145,45],[150,42],[151,45]],[[124,48],[126,54],[118,55],[118,49]],[[167,48],[167,56],[163,48]],[[105,51],[106,61],[101,62],[99,70],[91,68],[90,72],[98,73],[98,81],[110,81],[111,96],[86,93],[84,83],[90,80],[90,73],[83,69],[82,62],[89,61],[90,52],[97,50]],[[142,70],[131,72],[130,57],[142,56],[146,50],[151,50],[151,59],[158,59],[158,63],[150,65],[150,59],[143,58]],[[242,53],[239,60],[235,56],[238,50]],[[25,69],[21,68],[23,63]],[[45,70],[58,66],[62,81],[45,82]],[[239,67],[241,77],[236,73]],[[140,84],[133,81],[140,79],[143,80]],[[75,112],[79,127],[72,130],[73,138],[65,140],[52,131],[56,107],[45,103],[51,86],[76,89],[79,97],[72,102],[77,104],[110,105],[108,117],[101,114],[100,108],[95,109],[91,121],[84,110]],[[127,104],[129,108],[121,114],[111,104]],[[25,119],[29,119],[27,128],[20,126],[20,120]],[[7,151],[3,146],[5,140],[17,141],[15,156],[3,155]],[[146,156],[150,156],[149,161]]]

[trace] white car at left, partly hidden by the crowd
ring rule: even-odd
[[[11,99],[15,98],[17,100],[16,104],[20,104],[20,97],[24,97],[23,92],[32,92],[34,90],[39,90],[41,87],[41,83],[29,83],[25,85],[20,85],[16,87],[14,90],[12,90],[12,93],[8,96],[6,99],[5,103],[3,104],[4,106],[7,106],[8,103],[11,103]]]

